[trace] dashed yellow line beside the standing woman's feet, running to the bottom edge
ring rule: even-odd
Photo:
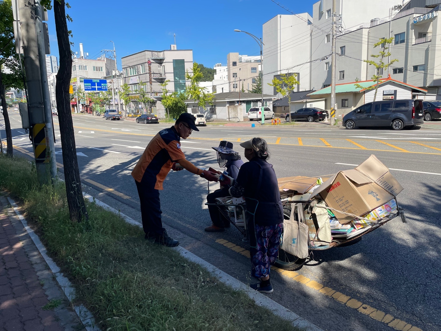
[[[217,239],[216,242],[221,245],[224,245],[225,247],[232,249],[235,252],[238,252],[239,254],[242,254],[243,256],[250,258],[250,252],[248,250],[240,251],[239,248],[241,247],[233,244],[232,242],[228,242],[227,240],[222,238]],[[310,287],[311,289],[317,290],[321,294],[333,298],[335,301],[340,302],[343,305],[346,305],[348,308],[356,309],[358,312],[361,312],[362,314],[367,315],[374,320],[387,324],[389,327],[392,327],[395,330],[422,331],[418,327],[415,327],[403,320],[399,320],[393,317],[392,315],[386,314],[381,310],[375,309],[374,307],[365,305],[363,304],[363,302],[351,298],[348,295],[344,295],[343,293],[337,292],[336,290],[333,290],[330,287],[325,287],[324,285],[316,282],[315,280],[311,280],[303,275],[300,275],[296,271],[283,270],[274,266],[272,266],[271,269],[273,271],[280,273],[284,277],[288,277],[292,280],[295,280],[297,283],[302,283]]]

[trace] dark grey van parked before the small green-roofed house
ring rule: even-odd
[[[389,126],[393,130],[424,123],[422,100],[382,100],[363,104],[344,115],[346,129],[356,126]]]

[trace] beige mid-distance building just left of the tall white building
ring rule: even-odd
[[[227,54],[227,74],[230,91],[250,91],[253,88],[253,84],[256,84],[260,71],[260,55]]]

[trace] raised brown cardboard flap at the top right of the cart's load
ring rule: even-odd
[[[366,161],[355,168],[356,171],[366,175],[390,194],[397,196],[403,190],[403,186],[392,176],[386,167],[375,155],[371,155]]]

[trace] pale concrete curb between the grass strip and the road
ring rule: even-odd
[[[117,211],[115,208],[110,207],[109,205],[106,205],[104,202],[99,201],[92,196],[90,196],[87,193],[83,192],[83,197],[88,199],[89,201],[95,203],[103,208],[108,209],[109,211],[112,211],[116,214],[119,214],[123,219],[132,225],[136,225],[137,227],[142,228],[142,225],[138,222],[136,222],[134,219],[130,218],[127,215],[124,215],[122,212]],[[285,308],[284,306],[280,305],[276,301],[273,301],[272,299],[268,298],[262,293],[259,293],[258,291],[252,290],[249,286],[239,281],[239,279],[235,279],[234,277],[228,275],[224,271],[216,268],[213,264],[208,263],[206,260],[201,259],[200,257],[194,255],[187,249],[177,246],[175,248],[176,251],[179,252],[183,257],[185,257],[187,260],[190,260],[196,264],[199,264],[200,266],[206,268],[211,275],[214,277],[217,277],[222,283],[231,286],[234,290],[243,290],[245,293],[247,293],[248,297],[250,297],[258,306],[264,307],[266,309],[269,309],[271,312],[273,312],[275,315],[280,316],[284,320],[288,320],[292,323],[293,326],[299,327],[304,329],[305,331],[323,331],[321,328],[317,327],[316,325],[312,324],[311,322],[303,319],[299,315],[295,314],[291,310]]]

